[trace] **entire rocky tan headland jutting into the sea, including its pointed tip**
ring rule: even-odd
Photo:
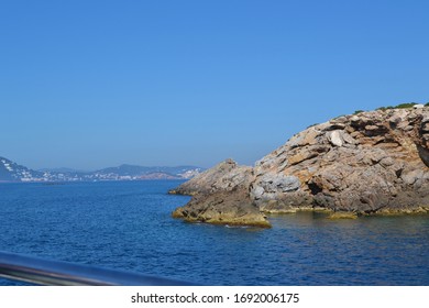
[[[170,194],[173,217],[270,227],[266,213],[429,212],[429,107],[381,109],[309,127],[255,163],[227,160]]]

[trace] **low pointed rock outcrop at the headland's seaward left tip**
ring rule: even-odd
[[[173,217],[189,222],[268,228],[265,215],[250,198],[252,180],[251,167],[227,160],[169,191],[194,196],[185,207],[176,209]]]

